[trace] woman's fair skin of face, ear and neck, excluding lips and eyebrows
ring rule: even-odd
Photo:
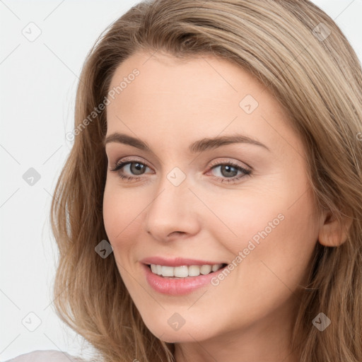
[[[341,240],[330,216],[317,213],[305,149],[288,115],[250,74],[211,55],[181,61],[138,52],[118,66],[110,88],[134,68],[139,76],[107,105],[106,136],[135,136],[153,153],[106,144],[103,216],[119,273],[146,326],[176,343],[177,362],[298,361],[289,342],[308,262],[318,239]],[[259,103],[251,114],[239,106],[245,95]],[[235,133],[269,150],[239,143],[188,151],[193,141]],[[148,167],[143,174],[129,165],[112,172],[126,157]],[[242,173],[228,177],[222,166],[211,169],[214,161],[252,173],[227,183]],[[175,167],[186,176],[178,186],[167,178]],[[122,180],[121,173],[139,179]],[[144,257],[231,262],[279,214],[284,220],[218,286],[168,296],[148,285]],[[185,320],[177,331],[168,325],[174,313]]]

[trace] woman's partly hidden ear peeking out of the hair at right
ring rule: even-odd
[[[318,241],[320,244],[336,247],[347,240],[349,228],[353,218],[342,215],[339,221],[332,211],[327,211],[322,215]]]

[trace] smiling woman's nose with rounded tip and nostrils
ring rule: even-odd
[[[199,231],[200,206],[187,178],[175,186],[164,177],[146,209],[146,231],[161,242],[194,235]]]

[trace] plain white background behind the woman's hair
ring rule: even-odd
[[[1,361],[37,349],[81,354],[81,337],[52,308],[57,247],[49,206],[71,146],[64,135],[73,129],[86,54],[107,25],[137,2],[0,0]],[[313,2],[337,22],[362,59],[362,0]],[[33,42],[22,33],[30,22],[41,30]],[[35,34],[34,25],[28,26]],[[29,168],[40,174],[33,186],[23,180]],[[25,318],[25,325],[35,326],[30,312],[41,320],[34,332],[22,323]],[[85,349],[83,357],[90,353]]]

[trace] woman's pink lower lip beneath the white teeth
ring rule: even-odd
[[[192,291],[205,286],[206,284],[211,284],[211,279],[224,269],[221,268],[214,273],[206,275],[187,276],[186,278],[171,279],[158,274],[153,274],[151,269],[146,264],[142,264],[142,267],[146,272],[146,280],[148,281],[148,284],[155,291],[168,294],[170,296],[181,296],[183,294],[189,294]]]

